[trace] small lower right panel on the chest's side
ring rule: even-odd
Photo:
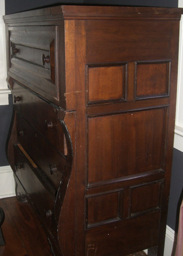
[[[160,209],[162,189],[162,181],[131,187],[131,216]]]

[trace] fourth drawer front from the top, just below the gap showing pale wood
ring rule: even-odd
[[[38,179],[38,168],[29,162],[18,145],[14,145],[14,153],[16,175],[23,184],[23,188],[29,195],[42,220],[50,228],[51,218],[48,215],[53,211],[55,200]]]

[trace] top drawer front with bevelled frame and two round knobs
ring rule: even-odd
[[[56,78],[56,26],[9,26],[9,74],[53,102]]]

